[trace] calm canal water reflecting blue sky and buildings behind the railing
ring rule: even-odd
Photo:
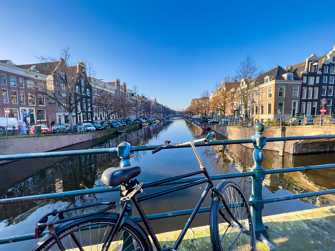
[[[99,141],[88,141],[62,150],[111,148],[116,147],[122,141],[127,141],[131,145],[161,145],[166,140],[180,143],[204,136],[206,134],[199,127],[187,120],[165,120],[118,137],[110,136]],[[225,138],[217,134],[216,139],[224,140]],[[242,145],[201,147],[197,150],[199,150],[199,155],[211,175],[250,171],[250,167],[253,165],[252,149]],[[134,152],[131,154],[130,162],[131,165],[141,166],[142,173],[137,178],[141,182],[199,169],[199,162],[197,162],[192,148],[162,150],[155,155],[148,151]],[[332,162],[334,162],[334,154],[279,157],[277,152],[264,151],[262,166],[265,169],[273,169]],[[27,159],[2,164],[0,165],[0,196],[1,198],[13,198],[104,187],[105,185],[100,180],[101,174],[106,168],[119,164],[120,159],[116,154]],[[332,177],[334,177],[332,169],[288,173],[287,175],[266,175],[263,196],[271,198],[319,191],[325,188],[334,189],[335,181]],[[233,180],[240,185],[247,196],[250,196],[250,178],[235,178]],[[216,181],[216,183],[218,182]],[[156,189],[162,189],[162,187],[146,189],[144,193],[150,194]],[[194,208],[202,189],[204,189],[204,185],[199,185],[157,199],[143,201],[143,208],[148,215]],[[119,193],[112,192],[1,206],[0,238],[33,233],[36,221],[54,209],[71,208],[101,201],[118,202],[119,200]],[[334,205],[334,201],[334,196],[328,195],[268,203],[264,206],[263,215],[329,206]],[[210,204],[211,200],[208,197],[203,206],[210,206]],[[136,216],[136,212],[134,212],[134,216]],[[156,220],[152,222],[152,225],[154,230],[159,233],[181,229],[186,220],[186,216],[176,217],[169,220]],[[198,215],[192,226],[206,224],[209,224],[209,213]],[[8,250],[8,248],[9,250],[27,250],[29,249],[27,247],[31,247],[34,243],[36,241],[0,245],[0,250]]]

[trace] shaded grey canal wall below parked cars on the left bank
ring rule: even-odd
[[[127,131],[139,129],[139,124],[122,127]],[[117,129],[104,131],[92,131],[81,134],[49,134],[49,135],[27,135],[8,136],[0,138],[0,155],[20,155],[35,152],[50,152],[70,145],[76,145],[97,138],[104,138],[115,134]],[[116,147],[116,146],[115,146]]]

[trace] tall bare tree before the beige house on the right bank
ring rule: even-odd
[[[258,70],[259,67],[250,55],[248,55],[236,69],[236,77],[241,81],[240,99],[242,99],[243,103],[243,120],[245,120],[248,108],[248,97],[250,96],[252,89],[255,87],[255,80],[252,79],[259,75],[257,74]]]

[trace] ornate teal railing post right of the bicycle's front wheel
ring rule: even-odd
[[[252,176],[252,194],[250,199],[254,203],[251,211],[252,218],[255,223],[256,234],[261,234],[262,232],[266,231],[262,219],[262,209],[264,208],[264,200],[262,198],[262,183],[265,178],[265,171],[262,167],[262,161],[264,157],[262,148],[264,148],[266,145],[266,137],[262,135],[264,128],[264,124],[255,124],[255,135],[252,136],[255,150],[252,154],[254,165],[252,166],[251,171],[255,173],[255,176]]]

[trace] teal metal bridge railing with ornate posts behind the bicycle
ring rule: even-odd
[[[318,165],[318,166],[301,166],[296,168],[285,168],[285,169],[275,169],[275,170],[264,170],[262,167],[263,161],[263,148],[267,142],[274,142],[274,141],[299,141],[299,140],[308,140],[308,139],[318,139],[318,138],[335,138],[335,135],[319,135],[319,136],[297,136],[297,137],[282,137],[282,138],[266,138],[262,135],[264,131],[264,124],[257,123],[254,126],[255,135],[252,136],[251,139],[241,139],[241,140],[234,140],[234,141],[211,141],[207,144],[205,143],[197,143],[195,146],[206,146],[206,145],[232,145],[232,144],[241,144],[241,143],[252,143],[255,150],[253,152],[253,159],[254,165],[251,168],[250,172],[245,173],[231,173],[225,175],[212,175],[211,178],[213,180],[222,180],[227,178],[238,178],[238,177],[247,177],[251,176],[252,178],[252,193],[250,196],[249,204],[252,209],[252,217],[255,222],[255,230],[257,234],[262,234],[266,232],[266,228],[263,224],[262,220],[262,209],[264,208],[265,203],[272,203],[277,201],[287,201],[291,199],[300,199],[304,197],[310,196],[320,196],[325,194],[334,194],[335,189],[328,189],[325,191],[319,192],[309,192],[304,194],[294,194],[290,196],[279,196],[273,197],[268,199],[262,198],[262,182],[264,181],[265,175],[273,174],[273,173],[289,173],[294,171],[307,171],[307,170],[315,170],[315,169],[322,169],[322,168],[334,168],[335,164],[325,164],[325,165]],[[104,148],[104,149],[92,149],[92,150],[72,150],[72,151],[60,151],[60,152],[42,152],[42,153],[33,153],[33,154],[23,154],[23,155],[3,155],[0,156],[0,161],[6,160],[18,160],[18,159],[34,159],[34,158],[48,158],[48,157],[61,157],[61,156],[71,156],[71,155],[92,155],[92,154],[102,154],[102,153],[117,153],[118,157],[121,158],[120,161],[120,168],[125,166],[130,166],[130,154],[131,152],[135,151],[146,151],[146,150],[154,150],[160,145],[147,145],[147,146],[136,146],[132,147],[127,142],[122,142],[117,148]],[[180,148],[187,148],[190,145],[183,145]],[[169,148],[167,148],[169,149]],[[166,183],[165,185],[172,185],[177,183],[185,183],[185,182],[193,182],[195,180],[199,180],[201,178],[185,178],[183,180],[176,180],[173,182]],[[10,198],[10,199],[1,199],[0,205],[6,205],[10,203],[21,203],[26,201],[40,201],[45,199],[55,199],[55,198],[62,198],[68,196],[78,196],[83,194],[97,194],[103,192],[113,192],[118,191],[119,187],[100,187],[100,188],[93,188],[93,189],[85,189],[85,190],[76,190],[76,191],[69,191],[69,192],[62,192],[62,193],[55,193],[55,194],[39,194],[34,196],[24,196],[19,198]],[[209,212],[210,207],[200,208],[199,213]],[[148,215],[149,220],[157,220],[163,219],[167,217],[176,217],[180,215],[188,215],[192,212],[192,210],[180,210],[180,211],[173,211],[169,213],[159,213],[156,215]],[[134,217],[134,220],[140,221],[140,217]],[[21,236],[10,236],[6,238],[0,239],[0,244],[12,243],[17,241],[26,241],[29,239],[34,239],[34,234],[24,234]]]

